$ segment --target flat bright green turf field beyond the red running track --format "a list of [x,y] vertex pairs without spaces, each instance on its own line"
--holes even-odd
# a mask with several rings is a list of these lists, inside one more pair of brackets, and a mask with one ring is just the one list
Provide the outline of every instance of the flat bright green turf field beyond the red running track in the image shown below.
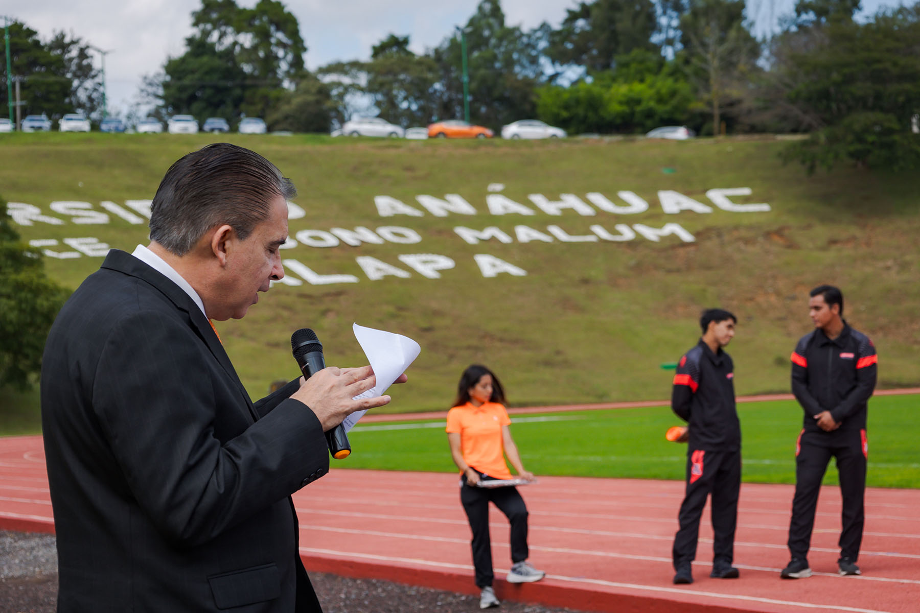
[[[920,396],[869,401],[868,479],[875,487],[920,487],[914,414]],[[802,423],[794,401],[740,403],[745,482],[795,482],[795,444]],[[528,470],[582,477],[683,479],[686,446],[664,439],[682,423],[666,406],[512,414],[512,435]],[[454,471],[443,420],[358,424],[351,457],[335,468]],[[825,483],[836,483],[834,461]]]

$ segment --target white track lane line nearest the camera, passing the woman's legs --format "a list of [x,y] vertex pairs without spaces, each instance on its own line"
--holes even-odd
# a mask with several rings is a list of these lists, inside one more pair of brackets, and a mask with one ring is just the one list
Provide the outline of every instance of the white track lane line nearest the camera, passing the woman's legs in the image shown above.
[[[372,553],[357,553],[351,551],[333,551],[333,550],[324,550],[324,549],[314,549],[310,547],[301,547],[301,553],[314,553],[318,555],[330,555],[336,558],[356,558],[358,560],[374,560],[376,562],[402,562],[408,564],[417,564],[420,566],[431,566],[435,568],[451,568],[456,570],[466,570],[471,571],[472,566],[467,564],[452,564],[448,562],[432,562],[431,560],[420,560],[418,558],[398,558],[396,556],[384,556],[376,555]],[[669,560],[670,562],[670,560]],[[507,573],[507,569],[496,568],[495,573]],[[723,600],[742,600],[748,602],[761,602],[769,605],[782,605],[786,607],[799,607],[799,608],[811,608],[811,609],[829,609],[832,611],[845,611],[846,613],[891,613],[890,611],[881,611],[879,609],[873,608],[857,608],[857,607],[844,607],[841,605],[821,605],[821,604],[812,604],[804,602],[796,602],[791,600],[777,600],[775,598],[762,598],[760,596],[740,596],[740,595],[730,595],[730,594],[719,594],[717,592],[702,592],[693,589],[680,589],[676,587],[663,587],[657,585],[638,585],[638,584],[623,584],[615,581],[604,581],[603,579],[587,579],[583,577],[567,577],[559,574],[547,574],[547,579],[553,579],[555,581],[571,583],[571,584],[592,584],[592,585],[604,585],[605,587],[619,587],[624,589],[638,590],[642,592],[660,592],[664,594],[671,595],[680,595],[682,598],[688,596],[707,596],[711,598],[720,598]]]

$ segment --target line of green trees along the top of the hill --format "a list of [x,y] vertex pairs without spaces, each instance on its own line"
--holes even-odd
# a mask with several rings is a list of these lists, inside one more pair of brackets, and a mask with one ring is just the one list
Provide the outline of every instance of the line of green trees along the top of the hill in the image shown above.
[[[464,36],[470,119],[493,130],[535,118],[574,134],[668,124],[701,134],[807,132],[788,158],[810,169],[840,159],[916,165],[920,2],[864,19],[859,7],[798,0],[776,33],[757,40],[743,0],[586,0],[558,28],[530,30],[509,25],[500,0],[482,0],[434,48],[415,53],[408,36],[390,34],[367,61],[311,72],[297,19],[279,0],[201,0],[185,51],[144,77],[142,95],[160,119],[258,116],[271,130],[325,132],[379,115],[424,126],[463,118]],[[86,43],[63,33],[41,43],[14,28],[14,73],[29,74],[29,110],[98,112]]]

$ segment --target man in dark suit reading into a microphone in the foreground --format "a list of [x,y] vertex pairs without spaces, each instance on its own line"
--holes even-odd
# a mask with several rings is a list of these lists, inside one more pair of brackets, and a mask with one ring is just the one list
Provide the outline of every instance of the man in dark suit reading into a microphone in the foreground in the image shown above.
[[257,153],[189,153],[149,247],[109,252],[58,315],[41,416],[62,613],[320,610],[291,494],[328,471],[325,430],[389,397],[352,400],[370,367],[328,368],[252,403],[209,321],[283,277],[293,194]]

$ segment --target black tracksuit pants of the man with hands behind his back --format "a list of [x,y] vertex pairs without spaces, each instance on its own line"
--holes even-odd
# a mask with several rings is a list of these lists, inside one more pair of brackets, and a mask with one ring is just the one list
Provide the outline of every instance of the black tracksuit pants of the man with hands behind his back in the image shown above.
[[699,520],[712,495],[713,565],[734,560],[735,526],[738,520],[738,494],[742,484],[742,452],[687,450],[686,494],[674,536],[674,570],[696,558]]

